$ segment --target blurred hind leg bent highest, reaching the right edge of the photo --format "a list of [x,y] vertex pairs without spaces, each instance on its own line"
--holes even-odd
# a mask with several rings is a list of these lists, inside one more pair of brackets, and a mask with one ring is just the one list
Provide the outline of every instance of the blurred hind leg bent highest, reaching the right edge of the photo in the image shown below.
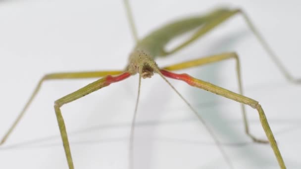
[[283,65],[283,63],[279,60],[279,57],[276,56],[275,52],[271,49],[271,47],[268,45],[268,43],[263,39],[262,35],[259,33],[259,31],[255,28],[254,24],[251,22],[251,19],[248,17],[248,15],[241,9],[227,9],[227,8],[220,8],[217,9],[216,12],[212,12],[212,14],[209,14],[207,17],[207,21],[202,25],[202,27],[188,40],[181,43],[180,45],[176,46],[174,49],[170,51],[163,51],[162,55],[170,55],[178,50],[181,50],[182,48],[186,47],[190,43],[196,41],[197,39],[201,38],[202,36],[206,35],[208,32],[213,30],[214,28],[220,26],[223,22],[226,20],[232,18],[233,16],[236,16],[237,14],[242,14],[244,17],[246,23],[248,24],[250,30],[255,35],[257,40],[260,42],[261,46],[265,49],[265,51],[268,53],[269,57],[272,59],[272,61],[276,64],[280,72],[285,76],[285,78],[296,84],[301,83],[301,79],[295,79],[287,70],[287,68]]

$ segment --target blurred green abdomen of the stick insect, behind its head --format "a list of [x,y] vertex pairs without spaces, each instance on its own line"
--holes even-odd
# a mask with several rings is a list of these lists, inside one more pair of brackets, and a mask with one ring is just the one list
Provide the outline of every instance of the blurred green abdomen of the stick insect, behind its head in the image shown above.
[[168,42],[182,34],[199,28],[193,36],[194,38],[192,41],[194,41],[201,35],[204,35],[207,31],[211,30],[212,27],[219,25],[237,12],[238,10],[236,9],[231,10],[223,8],[217,9],[207,15],[187,17],[171,22],[138,41],[136,48],[147,51],[152,57],[166,56],[167,53],[170,54],[170,52],[166,52],[164,49]]

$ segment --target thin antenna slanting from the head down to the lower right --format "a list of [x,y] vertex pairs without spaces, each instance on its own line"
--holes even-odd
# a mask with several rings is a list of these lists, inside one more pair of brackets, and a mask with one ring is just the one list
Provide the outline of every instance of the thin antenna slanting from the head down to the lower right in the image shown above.
[[162,73],[159,71],[158,68],[155,68],[154,71],[156,73],[158,73],[161,78],[164,79],[164,81],[171,86],[171,88],[181,97],[181,99],[187,104],[187,106],[197,115],[197,117],[199,118],[199,120],[201,121],[201,123],[204,125],[204,127],[207,129],[207,131],[209,132],[209,134],[211,135],[211,137],[213,138],[215,144],[217,145],[218,149],[220,150],[221,154],[223,155],[225,161],[228,163],[229,167],[231,169],[234,169],[230,159],[227,157],[226,152],[224,151],[224,149],[221,146],[221,143],[218,141],[217,137],[215,136],[214,132],[212,131],[212,129],[206,124],[206,122],[203,120],[203,118],[198,114],[198,112],[196,111],[195,108],[192,107],[192,105],[183,97],[182,94],[179,93],[179,91],[162,75]]

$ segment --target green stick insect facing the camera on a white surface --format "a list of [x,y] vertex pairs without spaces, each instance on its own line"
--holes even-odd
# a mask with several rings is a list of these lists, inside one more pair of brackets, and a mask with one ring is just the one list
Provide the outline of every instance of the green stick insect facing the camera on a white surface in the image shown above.
[[[125,1],[125,3],[128,4],[127,1]],[[33,97],[37,93],[40,85],[45,80],[64,79],[64,78],[65,79],[73,79],[73,78],[77,79],[77,78],[104,77],[104,78],[102,78],[102,79],[100,79],[100,80],[98,80],[98,81],[96,81],[92,84],[87,85],[86,87],[84,87],[84,88],[82,88],[82,89],[80,89],[80,90],[78,90],[74,93],[71,93],[70,95],[67,95],[67,96],[55,101],[54,109],[55,109],[55,113],[56,113],[56,116],[57,116],[60,132],[61,132],[61,135],[62,135],[62,140],[63,140],[63,143],[64,143],[64,149],[65,149],[65,152],[66,152],[66,157],[67,157],[69,168],[70,169],[73,168],[73,163],[72,163],[71,152],[70,152],[70,148],[69,148],[69,144],[68,144],[67,133],[65,131],[65,127],[64,127],[64,124],[63,124],[63,119],[62,119],[61,112],[60,112],[60,107],[63,104],[66,104],[66,103],[68,103],[72,100],[78,99],[78,98],[80,98],[80,97],[82,97],[86,94],[89,94],[90,92],[92,92],[94,90],[100,89],[101,87],[107,86],[111,83],[115,83],[115,82],[123,80],[123,79],[126,79],[130,75],[134,75],[134,74],[138,73],[139,76],[140,76],[140,78],[139,78],[139,84],[140,84],[141,78],[148,78],[148,77],[151,77],[153,73],[156,73],[159,76],[161,76],[168,84],[169,84],[169,82],[166,80],[165,77],[180,79],[180,80],[183,80],[183,81],[187,82],[188,84],[193,85],[195,87],[206,89],[206,90],[211,91],[213,93],[217,93],[217,94],[222,95],[224,97],[228,97],[230,99],[239,101],[241,103],[250,105],[251,107],[255,108],[259,113],[262,126],[263,126],[265,132],[267,133],[267,137],[268,137],[269,142],[270,142],[270,144],[271,144],[271,146],[272,146],[272,148],[275,152],[275,155],[276,155],[276,158],[279,162],[279,165],[280,165],[281,168],[284,169],[285,168],[284,162],[283,162],[282,157],[280,155],[280,152],[277,148],[277,145],[276,145],[275,140],[273,138],[272,132],[268,127],[267,121],[264,117],[263,110],[261,109],[261,106],[258,104],[257,101],[252,100],[251,98],[244,97],[240,94],[233,93],[233,92],[228,91],[226,89],[220,88],[220,87],[215,86],[213,84],[209,84],[209,83],[203,82],[201,80],[197,80],[197,79],[192,78],[192,77],[190,77],[188,75],[185,75],[185,74],[184,75],[179,75],[179,74],[174,74],[174,73],[169,72],[169,71],[174,71],[174,70],[178,70],[178,69],[185,69],[185,68],[193,67],[193,66],[201,66],[205,63],[213,63],[213,62],[217,62],[217,61],[220,61],[220,60],[233,58],[233,59],[237,60],[238,79],[240,79],[239,62],[238,62],[239,57],[237,56],[236,53],[223,53],[223,54],[220,54],[220,55],[204,57],[204,58],[200,58],[200,59],[197,59],[197,60],[192,60],[192,61],[188,61],[188,62],[185,62],[185,63],[180,63],[180,64],[176,64],[176,65],[172,65],[172,66],[168,66],[168,67],[164,67],[164,68],[158,68],[158,66],[153,61],[153,58],[155,56],[167,56],[169,54],[172,54],[172,53],[180,50],[181,48],[185,47],[186,45],[190,44],[191,42],[197,40],[198,38],[201,38],[202,35],[206,34],[211,29],[217,27],[219,24],[226,21],[228,18],[230,18],[234,15],[237,15],[237,14],[241,14],[246,18],[247,23],[249,24],[249,26],[251,27],[251,30],[257,36],[259,41],[261,43],[263,43],[263,45],[268,50],[270,55],[274,56],[274,54],[270,51],[270,49],[266,45],[266,43],[262,40],[262,38],[260,38],[261,36],[257,33],[255,28],[252,26],[252,24],[251,24],[250,20],[248,19],[248,17],[239,9],[226,9],[226,8],[225,9],[218,9],[218,10],[212,11],[211,13],[208,13],[207,15],[198,16],[196,18],[188,18],[187,20],[179,21],[179,23],[177,23],[177,21],[176,21],[174,24],[166,25],[166,26],[162,27],[162,29],[159,29],[159,30],[151,33],[150,36],[147,36],[146,38],[140,39],[140,38],[138,38],[137,33],[135,31],[135,26],[134,26],[134,23],[133,23],[133,19],[131,17],[131,12],[129,10],[129,6],[128,5],[126,5],[126,6],[127,6],[127,9],[128,9],[128,16],[129,16],[129,20],[130,20],[131,27],[132,27],[132,33],[135,37],[137,45],[136,45],[134,51],[132,52],[132,54],[130,56],[130,61],[129,61],[128,67],[125,70],[125,72],[124,71],[108,71],[108,72],[62,73],[62,74],[58,73],[58,74],[46,75],[40,81],[40,83],[38,85],[38,88],[35,90],[32,98],[29,100],[29,102],[27,104],[27,106],[30,104]],[[183,22],[185,24],[183,24]],[[170,40],[172,40],[172,38],[174,38],[177,35],[180,35],[182,33],[185,33],[187,31],[190,31],[193,28],[198,28],[198,27],[199,27],[199,31],[192,37],[192,39],[189,39],[187,42],[184,42],[182,45],[176,47],[175,49],[173,49],[171,51],[164,51],[165,44],[167,42],[169,42]],[[170,33],[170,35],[168,35],[167,33]],[[276,61],[276,63],[278,65],[281,65],[280,62],[277,61],[277,59],[274,58],[274,61]],[[286,73],[283,66],[279,66],[279,67],[280,67],[281,70],[283,70],[284,74],[286,75],[286,77],[288,79],[293,80],[291,78],[291,76],[288,73]],[[240,88],[242,88],[241,85],[240,85]],[[173,89],[177,92],[177,90],[175,88],[173,88]],[[240,89],[240,93],[243,94],[242,89]],[[139,94],[138,94],[138,96],[139,96]],[[187,102],[180,94],[179,94],[179,96],[185,102]],[[139,99],[137,99],[135,115],[136,115],[136,112],[137,112],[138,100]],[[27,106],[25,106],[25,108],[23,109],[21,115],[19,116],[20,118],[22,117],[23,113],[25,112]],[[194,111],[193,108],[191,108],[191,109]],[[243,112],[245,112],[244,105],[242,106],[242,109],[243,109]],[[245,113],[243,113],[243,114],[245,114]],[[14,123],[14,125],[11,127],[11,129],[7,132],[7,134],[2,139],[1,143],[4,143],[4,141],[6,140],[6,138],[10,134],[10,132],[13,130],[15,125],[18,123],[20,118],[17,119],[17,121]],[[200,118],[200,120],[201,120],[201,118]],[[133,122],[134,121],[135,121],[135,118],[133,119]],[[135,123],[133,123],[133,124],[135,124]],[[205,124],[205,123],[203,122],[203,124]],[[245,124],[246,124],[246,130],[248,131],[248,129],[247,129],[248,125],[247,125],[247,120],[246,119],[245,119]],[[132,128],[134,128],[134,126]],[[210,131],[210,129],[208,129],[208,130]],[[132,131],[133,131],[133,129],[132,129]],[[212,134],[212,137],[215,137],[213,133],[211,133],[211,134]],[[131,135],[133,135],[133,132],[132,132]],[[251,139],[253,139],[256,142],[266,142],[265,140],[257,139],[255,136],[251,135],[250,133],[248,133],[248,135],[251,137]],[[131,136],[131,138],[133,138],[133,137]],[[215,140],[215,141],[216,141],[217,145],[219,145],[218,140]],[[131,146],[133,146],[133,145],[131,145]],[[219,146],[219,148],[221,149],[221,152],[222,152],[223,156],[225,157],[225,160],[228,161],[229,166],[232,166],[231,163],[229,162],[229,160],[227,160],[227,157],[225,155],[225,152],[222,150],[222,147]]]

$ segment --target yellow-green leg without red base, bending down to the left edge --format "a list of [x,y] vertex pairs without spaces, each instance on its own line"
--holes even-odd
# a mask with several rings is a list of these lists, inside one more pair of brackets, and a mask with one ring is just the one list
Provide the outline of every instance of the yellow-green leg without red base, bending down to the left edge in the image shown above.
[[6,139],[9,137],[10,133],[13,131],[13,129],[17,126],[19,121],[22,119],[24,116],[27,108],[29,105],[32,103],[33,99],[37,95],[38,91],[41,88],[41,85],[44,81],[46,80],[54,80],[54,79],[84,79],[84,78],[100,78],[106,75],[118,75],[121,74],[122,71],[99,71],[99,72],[69,72],[69,73],[52,73],[45,75],[38,83],[36,86],[34,92],[31,94],[29,100],[25,104],[24,108],[18,115],[17,119],[14,121],[12,126],[7,130],[3,138],[1,139],[0,145],[2,145]]

